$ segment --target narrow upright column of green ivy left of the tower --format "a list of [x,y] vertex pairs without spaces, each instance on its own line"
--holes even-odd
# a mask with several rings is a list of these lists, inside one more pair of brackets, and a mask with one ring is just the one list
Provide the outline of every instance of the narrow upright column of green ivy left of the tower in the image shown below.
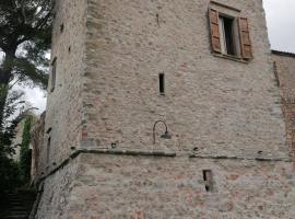
[[24,183],[30,182],[31,175],[31,150],[30,150],[30,142],[31,142],[31,125],[32,125],[32,116],[27,116],[24,123],[23,136],[22,136],[22,143],[21,143],[21,160],[20,160],[20,168],[22,173],[22,180]]

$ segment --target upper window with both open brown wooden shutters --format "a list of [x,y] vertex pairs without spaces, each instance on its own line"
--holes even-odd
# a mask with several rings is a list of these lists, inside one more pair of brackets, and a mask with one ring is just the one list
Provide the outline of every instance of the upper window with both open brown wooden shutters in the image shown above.
[[[221,8],[221,4],[219,5]],[[223,5],[228,9],[231,7]],[[237,14],[237,9],[234,9]],[[226,14],[222,10],[209,9],[212,49],[222,56],[249,60],[252,47],[247,18]]]

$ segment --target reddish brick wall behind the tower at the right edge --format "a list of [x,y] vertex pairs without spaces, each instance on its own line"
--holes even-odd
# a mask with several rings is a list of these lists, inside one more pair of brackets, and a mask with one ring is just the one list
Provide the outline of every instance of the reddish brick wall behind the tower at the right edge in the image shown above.
[[273,51],[274,68],[278,73],[282,95],[282,108],[287,128],[287,142],[295,152],[295,55]]

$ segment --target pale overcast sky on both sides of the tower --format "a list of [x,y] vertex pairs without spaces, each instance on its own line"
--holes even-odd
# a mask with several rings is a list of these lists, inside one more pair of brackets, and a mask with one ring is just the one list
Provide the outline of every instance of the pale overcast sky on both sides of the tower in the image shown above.
[[[272,49],[295,53],[295,0],[263,0]],[[25,89],[26,100],[38,112],[45,111],[45,93],[39,89]]]

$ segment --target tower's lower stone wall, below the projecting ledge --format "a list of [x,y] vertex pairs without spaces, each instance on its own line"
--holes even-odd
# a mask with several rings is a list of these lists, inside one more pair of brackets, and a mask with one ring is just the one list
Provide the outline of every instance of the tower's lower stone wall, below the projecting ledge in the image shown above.
[[[48,178],[50,194],[43,200],[47,209],[37,218],[295,217],[291,162],[102,153],[82,154],[79,163],[69,165],[75,166],[74,176],[62,170]],[[212,192],[205,189],[203,170],[213,173]]]

